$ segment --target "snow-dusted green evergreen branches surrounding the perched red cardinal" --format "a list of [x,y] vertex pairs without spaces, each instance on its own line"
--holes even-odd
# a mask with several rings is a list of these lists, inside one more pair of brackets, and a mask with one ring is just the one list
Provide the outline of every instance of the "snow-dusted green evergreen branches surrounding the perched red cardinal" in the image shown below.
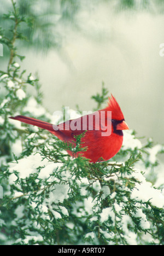
[[[10,115],[33,115],[51,121],[42,106],[38,79],[21,71],[24,56],[16,40],[22,22],[13,10],[4,15],[10,33],[1,29],[1,43],[10,52],[6,71],[0,71],[0,199],[1,245],[163,245],[163,165],[157,154],[164,148],[148,139],[142,144],[135,132],[126,132],[120,152],[107,162],[89,163],[71,158],[74,147],[51,133],[9,119]],[[19,64],[19,63],[20,64]],[[36,89],[36,97],[27,94]],[[107,89],[92,96],[100,107]]]

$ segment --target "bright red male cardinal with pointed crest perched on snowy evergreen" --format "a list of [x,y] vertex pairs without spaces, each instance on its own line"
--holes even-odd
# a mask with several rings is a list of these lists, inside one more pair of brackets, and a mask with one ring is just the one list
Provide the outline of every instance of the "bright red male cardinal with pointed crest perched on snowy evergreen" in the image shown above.
[[[62,141],[71,142],[74,145],[76,141],[74,136],[85,132],[84,137],[81,138],[81,146],[87,147],[87,150],[78,154],[90,159],[90,162],[102,161],[102,159],[107,161],[118,153],[123,141],[122,130],[128,129],[121,108],[113,95],[109,98],[106,108],[59,125],[23,115],[10,118],[48,130]],[[69,150],[67,152],[71,156],[78,156]]]

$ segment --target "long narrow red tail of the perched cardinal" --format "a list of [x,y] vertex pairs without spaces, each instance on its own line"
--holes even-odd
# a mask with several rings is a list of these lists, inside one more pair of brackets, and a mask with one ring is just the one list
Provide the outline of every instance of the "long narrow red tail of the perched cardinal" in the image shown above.
[[24,117],[24,115],[17,115],[17,117],[10,117],[10,118],[14,119],[14,120],[19,120],[26,124],[38,126],[42,129],[48,130],[50,132],[54,132],[54,128],[53,128],[54,125],[46,123],[46,122],[38,120],[38,119],[35,119],[35,118]]

